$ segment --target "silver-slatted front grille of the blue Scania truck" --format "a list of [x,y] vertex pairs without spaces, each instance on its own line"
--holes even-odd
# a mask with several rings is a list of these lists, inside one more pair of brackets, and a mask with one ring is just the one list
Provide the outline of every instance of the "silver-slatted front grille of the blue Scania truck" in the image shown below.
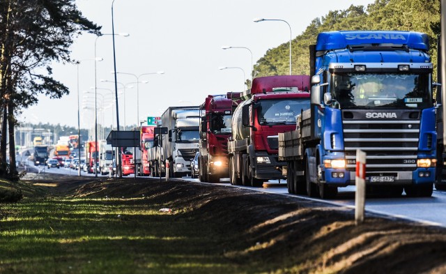
[[[367,153],[367,172],[417,167],[420,112],[397,111],[397,119],[366,119],[370,110],[343,111],[344,149],[347,170],[356,167],[356,150]],[[394,111],[392,111],[394,112]]]

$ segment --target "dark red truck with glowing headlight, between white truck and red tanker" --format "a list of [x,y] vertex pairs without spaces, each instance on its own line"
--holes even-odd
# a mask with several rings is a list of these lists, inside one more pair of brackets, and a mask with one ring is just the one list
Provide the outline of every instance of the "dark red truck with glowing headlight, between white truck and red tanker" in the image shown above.
[[[229,176],[228,139],[232,136],[233,109],[241,93],[209,95],[200,105],[199,180],[217,183]],[[238,98],[238,99],[237,99]]]

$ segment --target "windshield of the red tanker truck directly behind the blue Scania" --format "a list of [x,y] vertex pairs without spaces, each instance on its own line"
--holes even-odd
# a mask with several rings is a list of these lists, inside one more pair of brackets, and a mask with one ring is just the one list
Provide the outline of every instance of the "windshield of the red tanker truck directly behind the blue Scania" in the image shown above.
[[261,125],[295,123],[295,116],[302,110],[309,109],[308,98],[261,100],[254,106],[258,111]]

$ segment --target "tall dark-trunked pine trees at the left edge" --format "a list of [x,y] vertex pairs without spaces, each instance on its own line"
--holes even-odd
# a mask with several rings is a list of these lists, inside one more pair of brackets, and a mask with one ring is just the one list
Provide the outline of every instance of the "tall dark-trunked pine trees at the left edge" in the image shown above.
[[61,98],[68,87],[52,77],[52,61],[74,63],[70,45],[82,31],[100,35],[100,26],[82,16],[75,0],[0,0],[0,177],[18,179],[15,117],[39,94]]

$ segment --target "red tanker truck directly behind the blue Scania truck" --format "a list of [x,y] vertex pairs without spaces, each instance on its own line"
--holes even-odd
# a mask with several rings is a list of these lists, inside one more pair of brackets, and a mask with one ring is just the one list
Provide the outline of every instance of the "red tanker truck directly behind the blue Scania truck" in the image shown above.
[[309,108],[309,76],[258,77],[233,112],[228,142],[233,185],[261,186],[285,178],[278,160],[279,132],[295,130],[295,116]]

